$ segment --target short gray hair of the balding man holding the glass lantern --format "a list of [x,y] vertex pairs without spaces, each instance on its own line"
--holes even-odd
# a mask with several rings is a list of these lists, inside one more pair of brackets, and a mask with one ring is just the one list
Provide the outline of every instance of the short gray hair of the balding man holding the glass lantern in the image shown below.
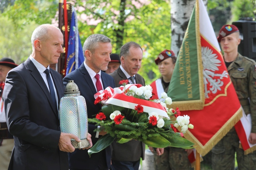
[[51,24],[42,24],[40,26],[38,26],[37,28],[35,28],[35,30],[33,31],[32,33],[32,36],[31,36],[31,43],[32,43],[32,50],[34,51],[34,41],[36,39],[39,39],[40,41],[46,41],[48,38],[49,38],[49,35],[48,35],[48,30],[49,28],[57,28],[59,29],[58,27],[55,27]]

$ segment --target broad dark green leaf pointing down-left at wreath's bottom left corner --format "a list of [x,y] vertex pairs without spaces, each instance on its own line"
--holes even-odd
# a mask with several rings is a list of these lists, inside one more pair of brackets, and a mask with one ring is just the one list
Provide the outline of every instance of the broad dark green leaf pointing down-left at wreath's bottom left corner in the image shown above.
[[89,156],[93,153],[98,153],[110,146],[110,144],[115,140],[115,138],[111,137],[109,134],[101,136],[100,139],[95,143],[93,147],[88,150]]

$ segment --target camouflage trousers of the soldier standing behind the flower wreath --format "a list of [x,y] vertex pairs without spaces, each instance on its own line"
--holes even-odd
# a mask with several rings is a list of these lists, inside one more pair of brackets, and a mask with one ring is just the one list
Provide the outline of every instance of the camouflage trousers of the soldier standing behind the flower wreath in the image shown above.
[[167,147],[163,154],[158,156],[154,152],[156,170],[190,170],[191,164],[185,149]]

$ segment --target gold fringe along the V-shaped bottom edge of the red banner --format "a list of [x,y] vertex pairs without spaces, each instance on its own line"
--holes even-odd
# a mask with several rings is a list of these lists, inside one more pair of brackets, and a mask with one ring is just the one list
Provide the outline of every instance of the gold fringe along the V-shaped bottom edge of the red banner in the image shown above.
[[[241,119],[242,108],[238,111],[222,126],[221,129],[203,146],[196,137],[189,132],[184,134],[185,138],[195,143],[194,147],[200,155],[204,156],[233,128],[233,126]],[[179,128],[179,130],[181,130]]]

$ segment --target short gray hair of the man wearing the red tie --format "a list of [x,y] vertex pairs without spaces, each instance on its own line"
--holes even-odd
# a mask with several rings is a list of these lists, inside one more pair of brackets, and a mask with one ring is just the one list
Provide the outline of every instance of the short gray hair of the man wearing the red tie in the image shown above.
[[85,50],[89,50],[91,53],[95,52],[98,47],[98,43],[111,43],[111,39],[102,34],[93,34],[86,38],[83,46],[83,53]]

